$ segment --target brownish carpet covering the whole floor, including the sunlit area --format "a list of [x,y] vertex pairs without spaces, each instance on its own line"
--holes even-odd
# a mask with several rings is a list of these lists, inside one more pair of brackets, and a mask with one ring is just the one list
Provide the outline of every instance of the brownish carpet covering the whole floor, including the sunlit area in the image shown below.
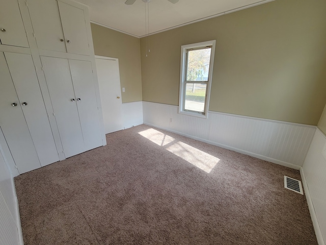
[[15,178],[25,244],[317,244],[298,170],[145,125]]

